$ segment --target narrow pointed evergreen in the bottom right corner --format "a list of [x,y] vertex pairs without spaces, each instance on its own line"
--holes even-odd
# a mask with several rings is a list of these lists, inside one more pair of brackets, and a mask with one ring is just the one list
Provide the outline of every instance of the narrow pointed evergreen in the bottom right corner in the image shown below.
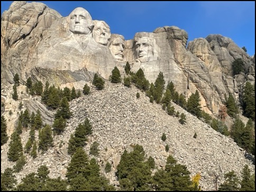
[[251,176],[248,165],[245,165],[242,171],[241,191],[255,191],[255,183]]

